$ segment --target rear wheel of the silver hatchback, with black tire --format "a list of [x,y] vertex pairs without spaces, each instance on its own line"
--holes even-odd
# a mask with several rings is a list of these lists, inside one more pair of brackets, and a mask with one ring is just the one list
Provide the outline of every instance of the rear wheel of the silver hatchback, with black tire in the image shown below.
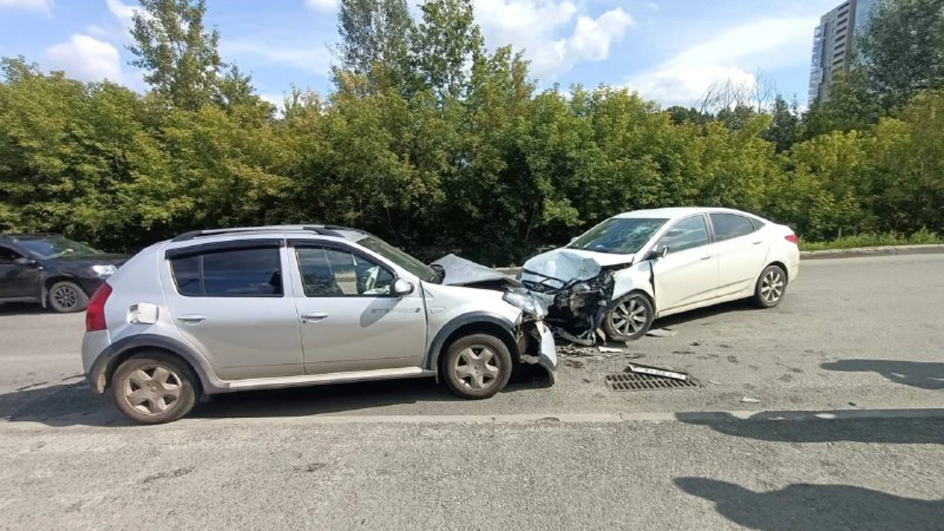
[[[166,376],[159,368],[166,371]],[[160,424],[190,413],[197,398],[195,385],[194,371],[176,356],[144,352],[118,366],[111,378],[111,396],[128,419],[142,424]],[[142,389],[143,393],[137,396],[131,394]],[[167,401],[168,398],[173,400]],[[165,407],[162,411],[161,403]]]

